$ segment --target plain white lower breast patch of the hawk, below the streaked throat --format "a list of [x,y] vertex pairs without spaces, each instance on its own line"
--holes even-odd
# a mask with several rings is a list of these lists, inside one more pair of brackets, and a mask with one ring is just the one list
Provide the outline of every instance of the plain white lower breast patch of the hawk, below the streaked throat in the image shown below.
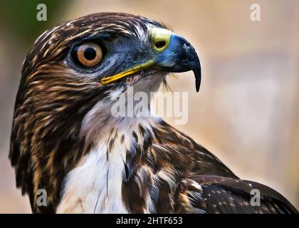
[[117,145],[107,160],[107,144],[99,144],[65,177],[57,213],[127,213],[122,202],[126,150]]

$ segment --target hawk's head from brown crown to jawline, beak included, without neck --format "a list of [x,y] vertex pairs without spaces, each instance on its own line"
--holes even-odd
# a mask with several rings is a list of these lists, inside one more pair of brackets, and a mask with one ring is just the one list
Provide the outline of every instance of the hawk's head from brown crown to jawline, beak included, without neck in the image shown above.
[[103,99],[115,90],[124,92],[127,86],[157,90],[167,73],[190,70],[199,90],[199,58],[184,38],[150,19],[106,13],[43,33],[26,58],[23,77],[28,86],[42,88],[43,100],[58,97],[63,89],[54,91],[53,84],[58,83],[69,88],[70,95],[76,95],[74,87],[80,88],[77,99],[84,99],[83,93],[90,96],[92,88],[92,94]]

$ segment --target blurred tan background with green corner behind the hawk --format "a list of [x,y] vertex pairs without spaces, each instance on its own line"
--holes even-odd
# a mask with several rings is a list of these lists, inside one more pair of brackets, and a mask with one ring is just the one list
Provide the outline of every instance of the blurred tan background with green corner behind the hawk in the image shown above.
[[[299,208],[299,1],[11,2],[0,7],[1,213],[31,212],[8,160],[23,58],[46,28],[100,11],[147,16],[187,38],[203,77],[199,93],[192,73],[169,81],[173,91],[189,91],[189,121],[177,128],[242,179],[273,187]],[[48,6],[48,21],[36,20],[38,3]],[[259,22],[250,19],[253,3],[261,5]]]

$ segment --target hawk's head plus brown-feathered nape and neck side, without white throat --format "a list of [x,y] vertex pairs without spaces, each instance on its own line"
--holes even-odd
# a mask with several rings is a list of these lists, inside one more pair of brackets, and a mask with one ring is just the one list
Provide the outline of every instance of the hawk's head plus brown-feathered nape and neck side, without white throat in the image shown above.
[[[23,63],[16,96],[10,157],[17,185],[23,192],[55,189],[90,146],[90,135],[80,132],[99,102],[128,86],[157,90],[168,73],[183,71],[194,71],[198,91],[201,68],[192,45],[142,16],[91,14],[44,32]],[[105,118],[100,122],[107,124]],[[30,169],[33,186],[26,182]],[[48,197],[55,201],[51,191]]]

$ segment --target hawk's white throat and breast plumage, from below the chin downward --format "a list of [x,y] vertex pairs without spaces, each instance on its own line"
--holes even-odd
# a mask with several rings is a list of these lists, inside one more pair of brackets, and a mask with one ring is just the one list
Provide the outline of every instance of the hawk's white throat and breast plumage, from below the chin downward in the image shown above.
[[[136,93],[130,90],[126,91],[125,98],[117,100],[121,93],[121,90],[114,90],[85,115],[80,137],[85,139],[90,150],[63,180],[58,213],[128,212],[122,199],[125,191],[122,184],[138,169],[137,161],[144,156],[154,137],[152,128],[161,119],[150,112],[149,100],[136,103],[133,98]],[[133,115],[130,115],[130,105],[134,109],[137,107]],[[143,109],[139,109],[140,106]],[[126,110],[126,113],[115,115],[115,110]]]

